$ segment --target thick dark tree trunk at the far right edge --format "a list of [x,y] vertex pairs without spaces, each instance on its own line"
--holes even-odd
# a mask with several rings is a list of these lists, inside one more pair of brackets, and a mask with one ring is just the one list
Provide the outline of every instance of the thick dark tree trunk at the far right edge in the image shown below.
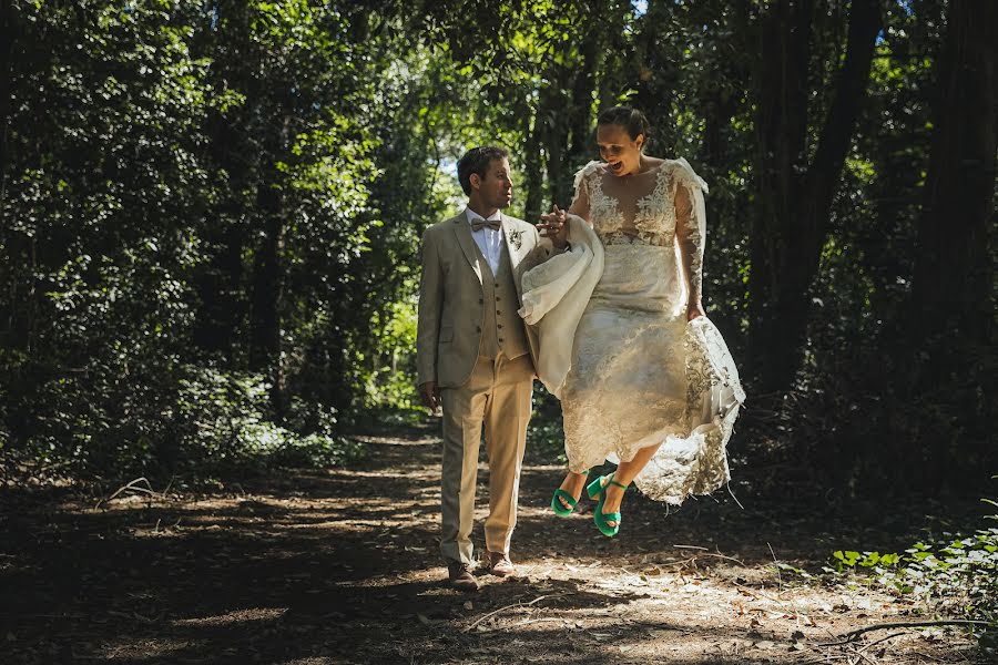
[[990,339],[998,3],[953,0],[947,22],[910,317],[914,346],[940,349]]

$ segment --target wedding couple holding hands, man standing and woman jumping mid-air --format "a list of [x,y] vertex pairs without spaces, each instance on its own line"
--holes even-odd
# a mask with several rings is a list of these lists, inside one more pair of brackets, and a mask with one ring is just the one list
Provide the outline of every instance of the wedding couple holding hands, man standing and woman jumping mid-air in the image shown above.
[[[727,482],[725,452],[744,392],[704,316],[706,184],[683,160],[646,155],[650,127],[628,106],[600,113],[601,161],[576,175],[567,211],[536,226],[503,215],[508,153],[476,147],[458,162],[468,206],[422,237],[417,372],[442,409],[442,532],[448,579],[473,591],[471,530],[485,433],[489,515],[482,567],[515,573],[510,540],[533,379],[561,400],[568,474],[551,509],[584,491],[595,528],[621,525],[624,491],[679,504]],[[589,470],[605,461],[612,474]]]

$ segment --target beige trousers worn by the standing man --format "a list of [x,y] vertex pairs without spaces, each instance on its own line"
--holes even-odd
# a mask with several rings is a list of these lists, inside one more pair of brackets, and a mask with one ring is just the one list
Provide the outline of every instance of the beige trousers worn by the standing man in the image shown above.
[[442,388],[444,470],[440,478],[440,554],[471,563],[471,526],[478,482],[478,448],[485,429],[489,460],[489,516],[486,549],[509,553],[517,525],[520,470],[533,392],[530,356],[479,358],[459,388]]

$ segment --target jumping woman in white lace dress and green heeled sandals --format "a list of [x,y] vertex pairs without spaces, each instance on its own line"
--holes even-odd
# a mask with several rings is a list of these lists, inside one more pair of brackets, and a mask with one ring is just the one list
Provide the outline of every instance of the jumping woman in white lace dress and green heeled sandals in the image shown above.
[[744,400],[701,299],[707,186],[685,160],[644,154],[648,136],[640,111],[603,111],[597,126],[603,161],[577,174],[568,213],[556,207],[540,225],[556,235],[584,221],[602,246],[602,274],[558,387],[569,473],[551,505],[570,514],[588,470],[618,462],[588,488],[599,499],[595,524],[610,536],[631,482],[676,504],[727,482],[725,447]]

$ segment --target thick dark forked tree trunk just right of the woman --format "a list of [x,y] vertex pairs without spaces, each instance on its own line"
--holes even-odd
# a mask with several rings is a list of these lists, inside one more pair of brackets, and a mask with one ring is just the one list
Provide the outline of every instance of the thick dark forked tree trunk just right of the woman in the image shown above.
[[832,200],[865,96],[876,35],[876,0],[854,0],[845,62],[814,161],[805,155],[809,0],[783,0],[763,30],[758,208],[750,277],[752,354],[757,389],[792,387],[811,310],[809,289],[827,236]]

